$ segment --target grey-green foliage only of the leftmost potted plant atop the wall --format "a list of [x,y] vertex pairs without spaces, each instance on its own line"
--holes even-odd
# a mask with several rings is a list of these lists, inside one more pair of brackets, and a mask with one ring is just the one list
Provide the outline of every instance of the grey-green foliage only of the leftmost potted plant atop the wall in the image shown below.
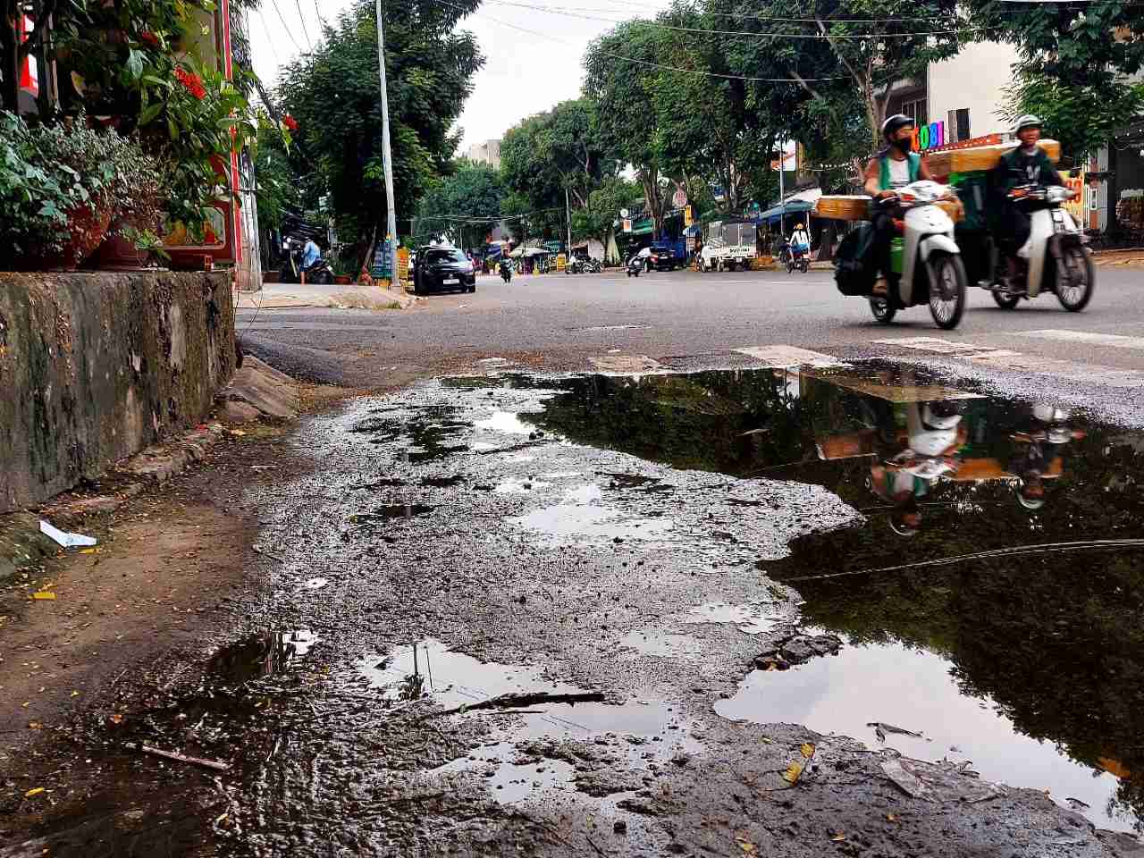
[[0,253],[63,249],[72,215],[114,207],[127,194],[117,165],[142,158],[137,144],[88,128],[84,116],[29,127],[0,112]]

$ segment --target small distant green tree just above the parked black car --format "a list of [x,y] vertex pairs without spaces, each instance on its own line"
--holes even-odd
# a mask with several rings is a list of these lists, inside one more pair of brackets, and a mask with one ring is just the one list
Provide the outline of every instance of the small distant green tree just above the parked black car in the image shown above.
[[436,182],[421,198],[416,241],[442,233],[459,247],[483,241],[501,216],[505,197],[500,173],[484,164],[460,161],[453,175]]

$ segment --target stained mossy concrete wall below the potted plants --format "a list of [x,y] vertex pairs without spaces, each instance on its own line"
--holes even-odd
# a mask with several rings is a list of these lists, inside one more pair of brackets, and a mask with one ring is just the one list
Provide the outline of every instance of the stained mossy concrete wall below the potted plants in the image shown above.
[[0,272],[0,513],[200,422],[233,372],[227,272]]

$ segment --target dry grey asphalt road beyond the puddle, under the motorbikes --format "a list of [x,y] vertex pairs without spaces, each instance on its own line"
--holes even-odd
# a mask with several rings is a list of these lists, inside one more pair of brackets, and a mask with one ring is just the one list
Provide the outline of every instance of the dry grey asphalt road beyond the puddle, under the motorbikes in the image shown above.
[[387,373],[432,373],[496,356],[567,370],[617,351],[669,365],[720,364],[736,349],[772,343],[907,353],[876,341],[917,336],[1142,371],[1141,285],[1139,270],[1099,268],[1096,294],[1080,313],[1051,295],[1002,310],[974,288],[960,327],[943,332],[924,307],[879,325],[865,301],[837,293],[829,271],[547,275],[510,284],[490,276],[475,294],[430,295],[406,311],[244,311],[239,331],[249,350],[288,372],[359,387],[384,383]]

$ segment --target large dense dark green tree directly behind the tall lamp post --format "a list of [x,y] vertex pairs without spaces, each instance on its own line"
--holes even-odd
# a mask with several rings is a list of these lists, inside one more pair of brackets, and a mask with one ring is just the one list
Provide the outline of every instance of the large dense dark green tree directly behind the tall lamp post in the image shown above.
[[[455,25],[478,0],[436,3],[390,0],[384,7],[386,73],[398,223],[408,223],[421,196],[451,169],[460,142],[454,128],[484,57],[471,33]],[[378,29],[374,5],[355,0],[324,41],[283,72],[280,104],[299,122],[292,157],[307,205],[327,197],[339,233],[364,259],[386,221]]]

